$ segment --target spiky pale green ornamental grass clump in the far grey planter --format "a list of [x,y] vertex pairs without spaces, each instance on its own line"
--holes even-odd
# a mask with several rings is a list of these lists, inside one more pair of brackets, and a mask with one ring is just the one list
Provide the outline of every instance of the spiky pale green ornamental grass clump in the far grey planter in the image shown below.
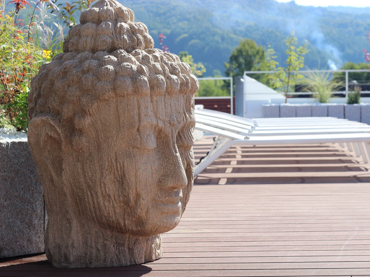
[[304,80],[306,85],[303,90],[314,93],[314,98],[319,103],[328,103],[333,98],[333,92],[343,86],[343,82],[333,83],[330,81],[330,72],[311,71]]

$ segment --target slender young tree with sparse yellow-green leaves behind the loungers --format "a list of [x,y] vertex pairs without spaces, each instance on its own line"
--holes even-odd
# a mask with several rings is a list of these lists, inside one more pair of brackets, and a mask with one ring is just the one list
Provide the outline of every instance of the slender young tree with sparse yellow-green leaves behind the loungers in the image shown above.
[[295,84],[299,79],[302,79],[303,76],[299,74],[299,69],[303,68],[305,64],[304,55],[308,52],[307,50],[307,41],[305,45],[297,47],[297,37],[294,35],[294,31],[290,34],[289,37],[285,39],[286,45],[286,60],[285,67],[278,66],[279,62],[276,61],[275,51],[268,46],[268,61],[270,68],[275,71],[274,74],[270,75],[272,84],[274,88],[282,89],[285,96],[285,103],[287,102],[287,96],[289,88]]

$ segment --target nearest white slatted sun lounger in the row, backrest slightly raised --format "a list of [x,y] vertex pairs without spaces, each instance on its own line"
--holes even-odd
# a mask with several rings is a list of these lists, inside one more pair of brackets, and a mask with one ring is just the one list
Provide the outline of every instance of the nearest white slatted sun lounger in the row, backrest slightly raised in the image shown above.
[[243,134],[222,130],[216,127],[196,123],[195,128],[217,137],[208,152],[195,167],[195,176],[205,170],[220,155],[232,146],[256,146],[276,144],[320,144],[320,143],[358,143],[364,163],[369,163],[370,133],[341,133],[341,134],[306,134],[289,136],[245,136]]

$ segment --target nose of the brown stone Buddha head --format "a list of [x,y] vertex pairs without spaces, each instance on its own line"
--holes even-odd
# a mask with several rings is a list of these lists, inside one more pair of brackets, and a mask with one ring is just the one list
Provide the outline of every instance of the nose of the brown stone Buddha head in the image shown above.
[[185,188],[188,184],[185,168],[178,151],[172,149],[166,153],[163,164],[163,175],[161,187],[165,190],[176,190]]

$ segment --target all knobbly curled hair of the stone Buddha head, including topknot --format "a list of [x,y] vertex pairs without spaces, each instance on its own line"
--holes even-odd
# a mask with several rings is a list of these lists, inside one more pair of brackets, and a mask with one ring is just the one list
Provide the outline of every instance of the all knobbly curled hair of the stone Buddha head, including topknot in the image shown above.
[[148,28],[134,22],[132,10],[100,0],[81,13],[80,21],[70,30],[64,53],[43,64],[32,79],[29,120],[50,114],[81,129],[76,122],[87,124],[82,119],[98,102],[146,96],[184,95],[191,111],[199,83],[190,66],[175,54],[154,49]]

